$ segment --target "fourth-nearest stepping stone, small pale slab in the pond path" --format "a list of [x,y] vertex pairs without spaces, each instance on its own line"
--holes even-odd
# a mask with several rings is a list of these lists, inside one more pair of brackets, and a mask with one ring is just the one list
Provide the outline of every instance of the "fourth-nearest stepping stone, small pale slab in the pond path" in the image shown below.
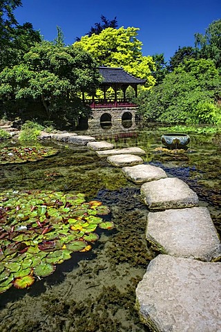
[[162,168],[153,165],[142,164],[133,167],[124,167],[122,171],[126,178],[134,183],[144,183],[160,180],[160,178],[167,178],[166,172]]

